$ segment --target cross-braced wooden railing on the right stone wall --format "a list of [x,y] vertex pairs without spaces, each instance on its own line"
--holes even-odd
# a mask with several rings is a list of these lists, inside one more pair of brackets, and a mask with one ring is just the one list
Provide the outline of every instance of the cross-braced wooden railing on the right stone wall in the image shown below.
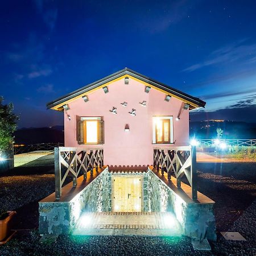
[[154,148],[154,167],[162,174],[167,172],[168,180],[174,174],[177,187],[181,187],[181,177],[187,177],[192,190],[192,199],[197,200],[196,146]]

